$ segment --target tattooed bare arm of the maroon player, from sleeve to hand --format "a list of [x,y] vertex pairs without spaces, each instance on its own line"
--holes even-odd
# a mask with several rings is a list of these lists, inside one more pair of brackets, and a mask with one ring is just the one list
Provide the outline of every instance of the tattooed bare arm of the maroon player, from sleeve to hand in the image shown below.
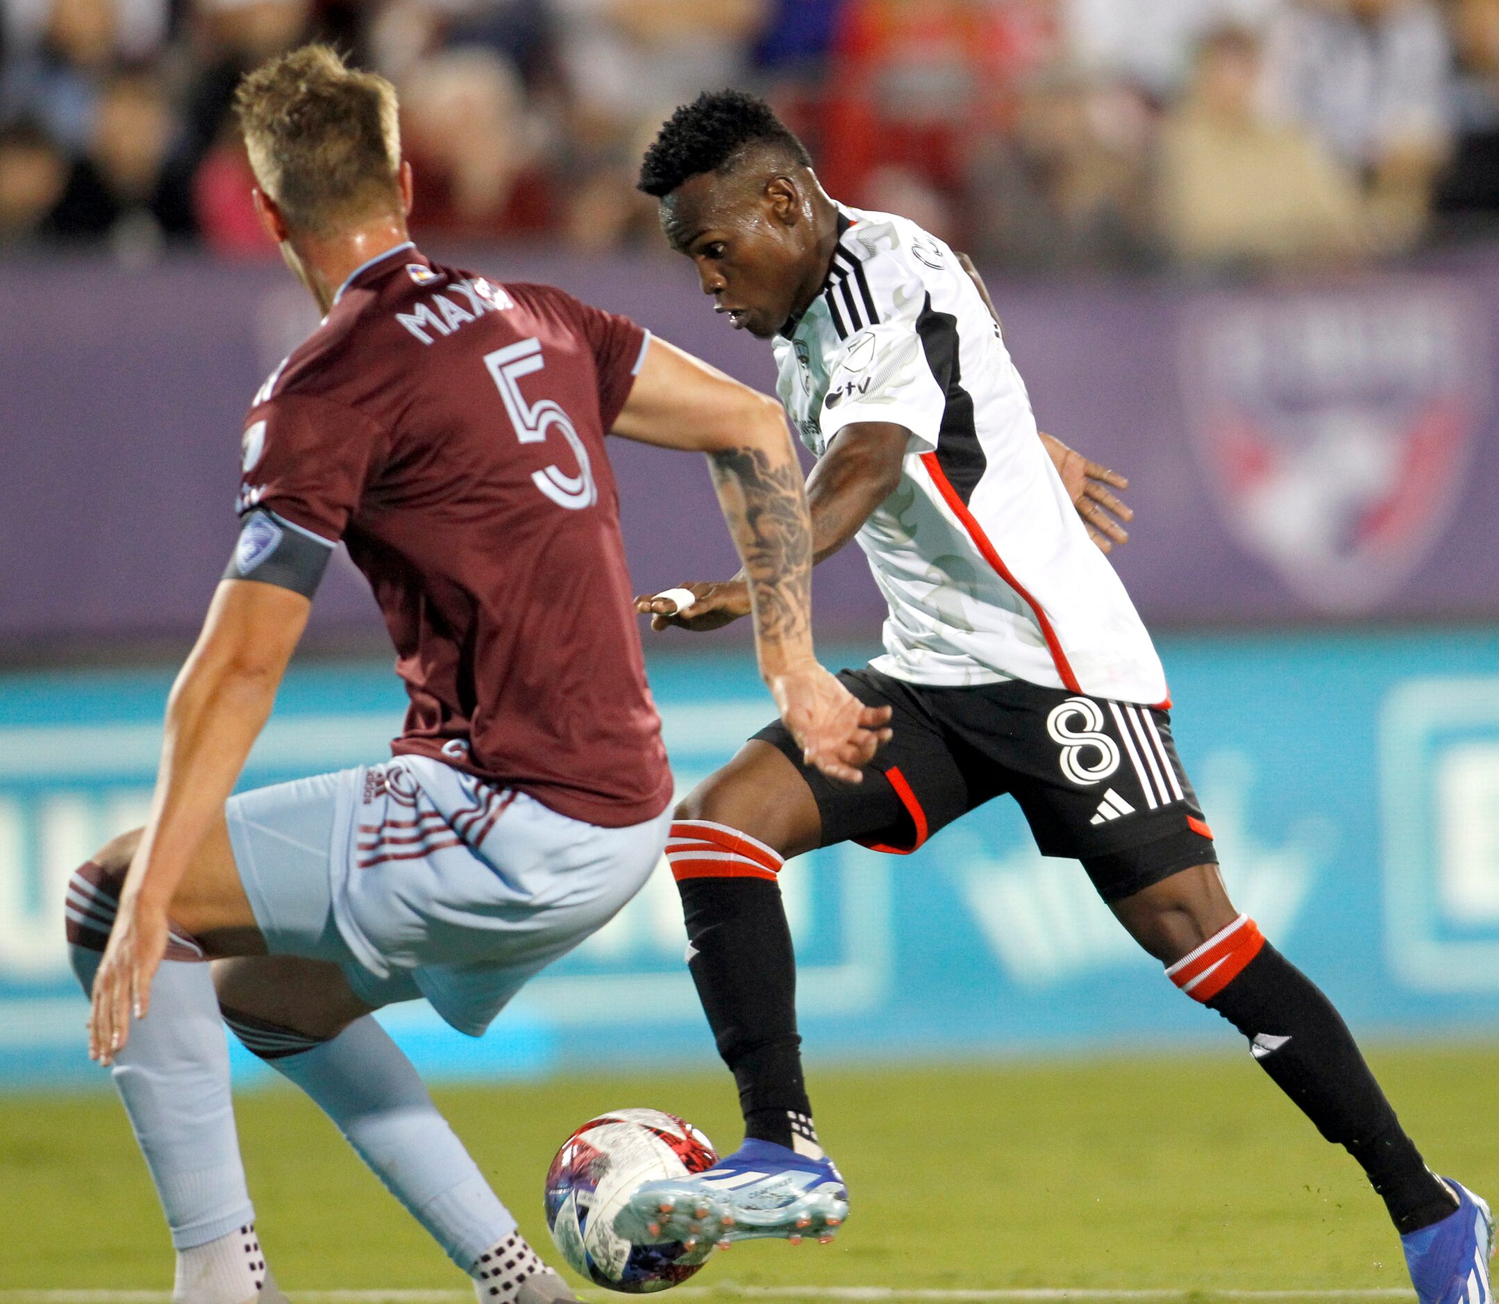
[[812,651],[812,529],[781,405],[654,339],[615,433],[708,454],[744,562],[760,673],[806,760],[857,782],[890,713],[863,706]]

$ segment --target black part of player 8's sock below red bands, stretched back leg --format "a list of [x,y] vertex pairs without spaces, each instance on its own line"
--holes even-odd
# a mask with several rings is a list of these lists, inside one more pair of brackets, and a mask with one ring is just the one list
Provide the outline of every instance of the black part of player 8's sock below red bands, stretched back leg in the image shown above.
[[1318,1132],[1363,1165],[1397,1231],[1453,1213],[1451,1193],[1405,1135],[1342,1015],[1268,941],[1207,1006],[1249,1037],[1259,1067]]

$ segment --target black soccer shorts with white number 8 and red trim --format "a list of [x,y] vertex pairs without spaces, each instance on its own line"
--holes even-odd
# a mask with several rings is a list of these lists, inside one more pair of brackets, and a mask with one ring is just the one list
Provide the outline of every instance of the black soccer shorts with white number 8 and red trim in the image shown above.
[[859,842],[908,854],[1010,793],[1042,854],[1081,860],[1105,901],[1217,862],[1166,710],[1021,679],[935,688],[869,668],[838,677],[860,701],[893,709],[895,736],[862,784],[803,764],[781,721],[755,734],[802,772],[823,818],[823,847]]

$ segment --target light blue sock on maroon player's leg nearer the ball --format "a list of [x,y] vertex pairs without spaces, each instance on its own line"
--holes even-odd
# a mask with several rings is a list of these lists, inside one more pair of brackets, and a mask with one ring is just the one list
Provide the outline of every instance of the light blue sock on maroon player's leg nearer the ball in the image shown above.
[[232,1010],[223,1018],[246,1046],[312,1097],[465,1273],[516,1231],[411,1060],[370,1015],[312,1049],[298,1049],[312,1043],[298,1033]]

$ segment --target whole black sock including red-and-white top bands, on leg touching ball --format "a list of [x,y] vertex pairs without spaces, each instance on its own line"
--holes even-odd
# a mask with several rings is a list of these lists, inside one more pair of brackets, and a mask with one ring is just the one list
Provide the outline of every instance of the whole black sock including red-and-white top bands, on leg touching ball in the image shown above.
[[745,1135],[821,1156],[796,1033],[796,955],[781,904],[781,856],[708,820],[672,824],[688,967],[739,1084]]

